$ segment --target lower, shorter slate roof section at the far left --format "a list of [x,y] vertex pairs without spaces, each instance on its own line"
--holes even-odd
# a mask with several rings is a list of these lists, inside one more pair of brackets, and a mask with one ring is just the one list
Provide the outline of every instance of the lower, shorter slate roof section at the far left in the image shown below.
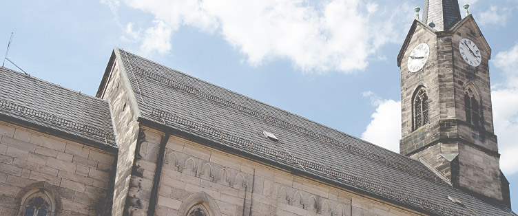
[[116,148],[106,101],[6,67],[0,67],[0,117],[58,131],[105,150]]

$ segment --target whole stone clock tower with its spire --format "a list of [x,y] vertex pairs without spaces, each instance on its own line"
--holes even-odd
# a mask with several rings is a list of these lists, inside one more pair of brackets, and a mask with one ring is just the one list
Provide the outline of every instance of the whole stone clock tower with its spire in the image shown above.
[[499,169],[488,61],[491,49],[457,0],[425,0],[397,57],[400,153],[431,165],[456,188],[510,206]]

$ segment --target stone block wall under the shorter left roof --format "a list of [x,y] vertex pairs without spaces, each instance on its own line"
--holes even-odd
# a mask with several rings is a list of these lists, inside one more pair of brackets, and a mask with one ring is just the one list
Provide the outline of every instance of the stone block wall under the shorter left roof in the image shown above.
[[55,191],[58,215],[98,215],[113,160],[112,153],[0,122],[0,215],[17,215],[20,198],[35,186]]

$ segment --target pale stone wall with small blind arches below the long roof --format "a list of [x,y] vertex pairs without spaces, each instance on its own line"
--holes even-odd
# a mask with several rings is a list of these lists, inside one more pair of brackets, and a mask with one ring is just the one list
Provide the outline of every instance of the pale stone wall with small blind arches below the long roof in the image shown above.
[[209,215],[413,215],[171,136],[166,144],[156,215],[187,215],[200,203],[205,203]]

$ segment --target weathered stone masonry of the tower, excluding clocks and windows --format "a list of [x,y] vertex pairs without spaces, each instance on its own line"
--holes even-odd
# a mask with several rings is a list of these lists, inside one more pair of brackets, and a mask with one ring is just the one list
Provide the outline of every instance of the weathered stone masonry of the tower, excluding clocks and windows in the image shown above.
[[[470,17],[464,19],[454,32],[444,34],[434,34],[417,25],[401,64],[400,152],[414,159],[423,158],[456,186],[501,200],[489,83],[490,49]],[[459,52],[459,42],[464,38],[479,46],[482,62],[478,67],[468,65]],[[423,69],[412,73],[408,71],[406,61],[419,43],[427,43],[431,47],[430,57]],[[482,122],[479,126],[466,122],[464,92],[467,86],[477,91]],[[417,87],[426,88],[428,93],[430,120],[427,125],[414,128],[413,96]],[[448,144],[454,144],[454,148],[446,147]],[[445,153],[458,154],[458,161],[446,160],[441,156]]]

